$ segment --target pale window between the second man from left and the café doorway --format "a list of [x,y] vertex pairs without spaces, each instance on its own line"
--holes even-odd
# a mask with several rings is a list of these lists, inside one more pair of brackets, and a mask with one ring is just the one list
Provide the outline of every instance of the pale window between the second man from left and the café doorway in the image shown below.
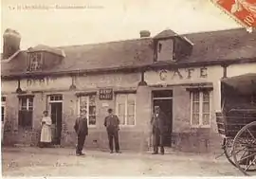
[[117,94],[116,109],[120,125],[136,125],[136,94]]

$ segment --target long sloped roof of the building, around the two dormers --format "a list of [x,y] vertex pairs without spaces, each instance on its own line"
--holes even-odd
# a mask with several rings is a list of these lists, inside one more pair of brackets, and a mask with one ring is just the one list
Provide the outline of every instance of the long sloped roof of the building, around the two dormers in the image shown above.
[[[184,36],[193,44],[192,55],[179,60],[176,64],[256,58],[256,32],[247,33],[244,28],[192,33]],[[45,72],[115,70],[153,65],[153,40],[153,38],[142,38],[97,45],[60,46],[58,48],[63,49],[65,53],[64,60]],[[26,73],[27,67],[24,66],[26,56],[27,52],[23,51],[15,60],[2,63],[2,76]]]

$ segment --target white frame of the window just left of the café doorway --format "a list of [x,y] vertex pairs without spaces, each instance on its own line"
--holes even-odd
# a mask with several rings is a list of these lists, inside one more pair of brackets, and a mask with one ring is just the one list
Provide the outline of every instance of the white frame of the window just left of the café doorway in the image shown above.
[[[136,111],[136,109],[137,109],[137,107],[136,107],[136,105],[137,105],[137,102],[136,102],[136,99],[137,99],[137,96],[136,96],[136,94],[135,93],[116,93],[115,94],[115,108],[116,108],[116,115],[117,116],[119,116],[119,103],[118,103],[118,96],[119,95],[125,95],[126,97],[125,97],[125,108],[124,108],[124,110],[125,110],[125,117],[124,117],[124,124],[119,124],[119,126],[120,127],[135,127],[136,125],[137,125],[137,117],[136,117],[136,114],[137,114],[137,111]],[[135,102],[135,107],[134,107],[134,120],[135,120],[135,124],[128,124],[128,96],[129,95],[134,95],[135,96],[135,100],[134,100],[134,102]]]

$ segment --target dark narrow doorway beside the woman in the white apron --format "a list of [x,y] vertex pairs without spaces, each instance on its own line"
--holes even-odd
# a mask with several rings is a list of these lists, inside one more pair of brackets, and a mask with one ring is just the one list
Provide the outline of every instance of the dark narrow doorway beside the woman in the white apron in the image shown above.
[[60,145],[63,124],[63,101],[61,95],[49,97],[49,110],[52,120],[52,144]]

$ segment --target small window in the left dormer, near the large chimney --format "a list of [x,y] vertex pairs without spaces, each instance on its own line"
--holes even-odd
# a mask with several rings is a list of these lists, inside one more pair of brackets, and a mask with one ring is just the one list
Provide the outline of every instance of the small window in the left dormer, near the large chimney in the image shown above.
[[42,70],[43,54],[41,52],[33,52],[28,55],[28,71]]

